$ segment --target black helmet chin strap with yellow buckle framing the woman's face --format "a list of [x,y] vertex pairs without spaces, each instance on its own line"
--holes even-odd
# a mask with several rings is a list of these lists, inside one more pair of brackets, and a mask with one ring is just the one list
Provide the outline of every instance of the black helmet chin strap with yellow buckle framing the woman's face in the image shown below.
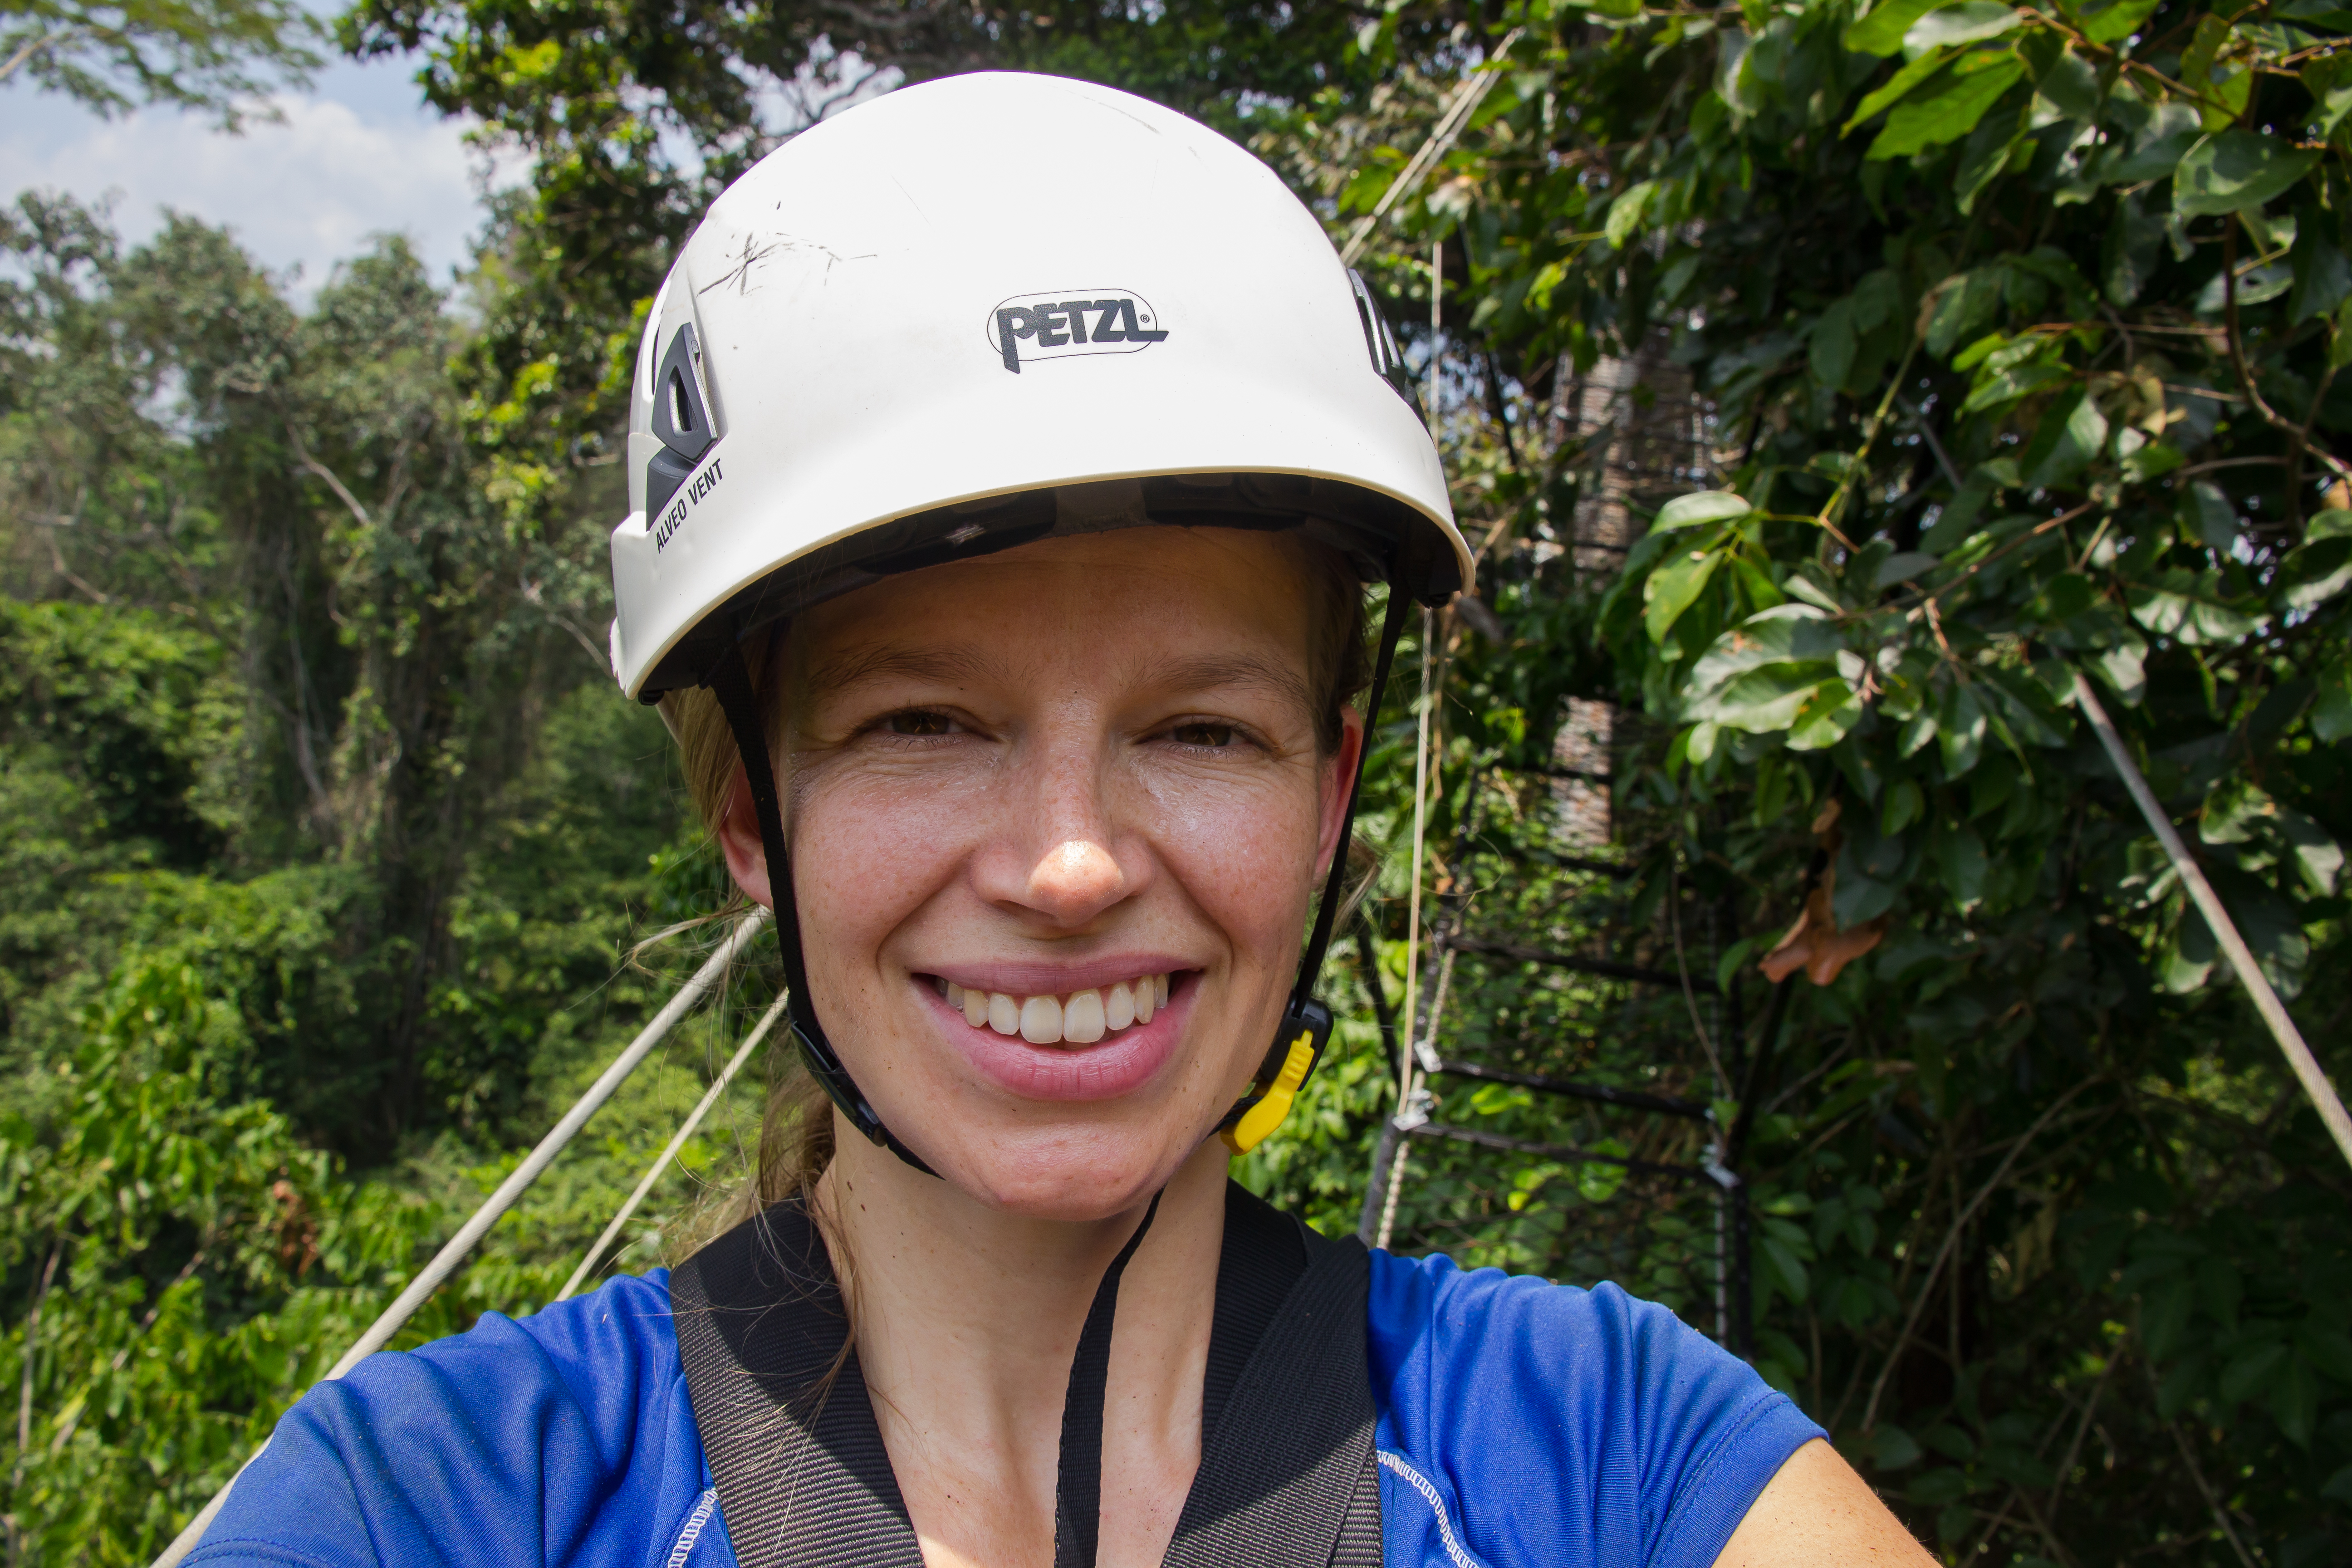
[[[1371,741],[1381,722],[1381,693],[1388,691],[1388,670],[1395,663],[1397,639],[1404,635],[1404,616],[1411,604],[1411,595],[1390,585],[1388,614],[1381,621],[1381,654],[1371,668],[1364,743],[1355,752],[1355,776],[1348,780],[1348,806],[1338,820],[1338,849],[1331,853],[1331,875],[1324,879],[1322,907],[1315,910],[1315,929],[1308,933],[1305,954],[1298,959],[1298,983],[1291,987],[1289,1006],[1282,1009],[1282,1027],[1275,1030],[1275,1044],[1258,1067],[1258,1084],[1218,1124],[1228,1138],[1235,1124],[1265,1098],[1265,1086],[1277,1081],[1296,1046],[1308,1046],[1308,1056],[1303,1070],[1291,1074],[1294,1081],[1289,1081],[1287,1093],[1296,1093],[1315,1072],[1324,1046],[1331,1041],[1331,1009],[1315,999],[1315,978],[1322,973],[1324,952],[1331,947],[1331,931],[1338,926],[1338,905],[1348,891],[1348,846],[1355,837],[1355,806],[1364,792],[1364,764],[1371,759]],[[882,1117],[866,1103],[856,1079],[849,1077],[842,1058],[833,1051],[833,1041],[826,1039],[823,1025],[816,1023],[816,1004],[809,999],[809,969],[800,952],[800,907],[793,898],[793,858],[783,839],[776,769],[769,762],[767,722],[760,715],[760,698],[753,691],[750,665],[743,661],[741,642],[710,672],[710,691],[727,715],[727,729],[734,731],[736,752],[743,757],[743,776],[750,783],[753,813],[760,818],[760,849],[767,851],[767,891],[776,905],[776,947],[783,952],[783,983],[790,994],[793,1039],[800,1044],[800,1060],[807,1063],[809,1077],[823,1086],[833,1103],[842,1107],[842,1114],[849,1117],[849,1124],[866,1133],[868,1140],[924,1175],[938,1175],[938,1171],[922,1164],[920,1154],[898,1143],[896,1133],[882,1126]],[[1136,1234],[1141,1237],[1141,1232]],[[1117,1279],[1117,1272],[1112,1272],[1112,1279]]]

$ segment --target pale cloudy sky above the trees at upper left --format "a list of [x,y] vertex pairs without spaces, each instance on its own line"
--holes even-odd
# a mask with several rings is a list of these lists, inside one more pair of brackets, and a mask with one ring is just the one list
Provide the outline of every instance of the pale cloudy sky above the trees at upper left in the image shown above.
[[0,87],[0,195],[113,195],[129,242],[155,233],[165,207],[226,223],[270,270],[299,268],[299,299],[376,233],[407,233],[447,282],[482,226],[482,155],[463,122],[426,108],[414,73],[402,59],[334,59],[306,92],[273,99],[280,125],[242,134],[172,108],[101,120],[16,75]]

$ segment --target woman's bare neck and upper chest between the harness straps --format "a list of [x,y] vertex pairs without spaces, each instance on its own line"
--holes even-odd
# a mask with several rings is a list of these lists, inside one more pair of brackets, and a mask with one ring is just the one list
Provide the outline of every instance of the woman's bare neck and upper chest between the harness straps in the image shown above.
[[[1054,1561],[1061,1408],[1103,1272],[1143,1204],[1094,1222],[974,1201],[844,1135],[816,1208],[927,1568]],[[1103,1399],[1103,1568],[1160,1563],[1200,1467],[1225,1152],[1169,1180],[1120,1284]]]

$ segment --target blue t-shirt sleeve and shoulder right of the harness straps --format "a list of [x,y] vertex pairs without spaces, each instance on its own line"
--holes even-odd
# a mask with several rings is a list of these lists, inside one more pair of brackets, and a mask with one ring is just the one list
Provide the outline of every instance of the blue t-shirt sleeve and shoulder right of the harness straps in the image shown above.
[[1665,1307],[1444,1258],[1374,1255],[1371,1371],[1397,1505],[1451,1535],[1437,1561],[1708,1568],[1820,1436]]

